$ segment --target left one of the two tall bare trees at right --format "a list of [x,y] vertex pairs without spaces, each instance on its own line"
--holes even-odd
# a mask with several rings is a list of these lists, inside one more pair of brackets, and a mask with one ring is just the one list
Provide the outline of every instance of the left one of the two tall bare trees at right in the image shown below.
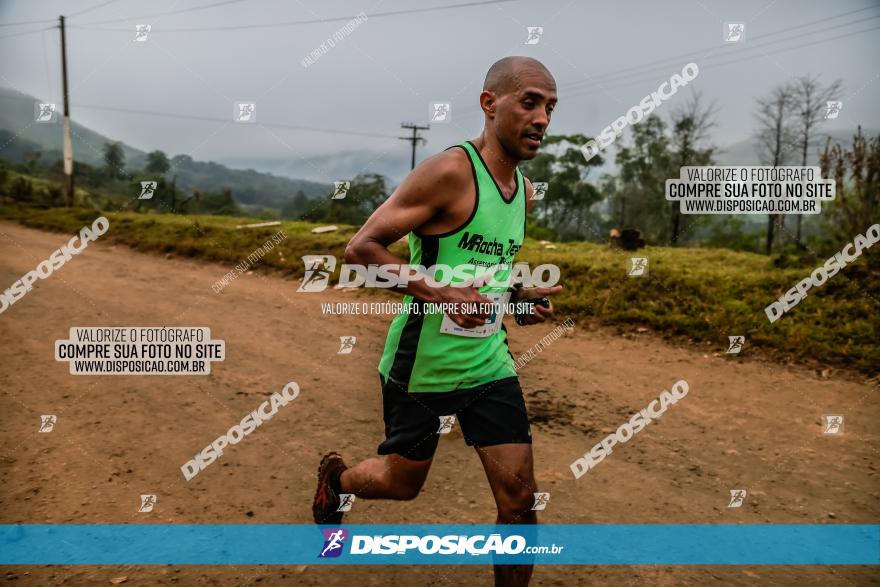
[[[791,120],[795,104],[794,88],[790,84],[777,86],[770,95],[758,98],[757,102],[755,118],[758,121],[758,154],[761,162],[773,167],[784,165],[795,140]],[[781,214],[770,214],[767,218],[767,255],[773,251],[774,227],[781,223],[781,217]]]

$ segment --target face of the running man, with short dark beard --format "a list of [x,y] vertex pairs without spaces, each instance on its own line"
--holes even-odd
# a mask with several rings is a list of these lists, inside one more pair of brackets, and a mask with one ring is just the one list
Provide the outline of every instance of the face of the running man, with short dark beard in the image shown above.
[[521,68],[512,86],[495,102],[495,135],[517,160],[538,154],[556,107],[556,83],[538,68]]

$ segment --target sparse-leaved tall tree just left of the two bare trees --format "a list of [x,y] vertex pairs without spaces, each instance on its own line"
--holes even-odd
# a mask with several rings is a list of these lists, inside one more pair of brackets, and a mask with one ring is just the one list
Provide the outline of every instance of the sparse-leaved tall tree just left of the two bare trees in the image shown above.
[[[671,116],[673,147],[673,171],[682,167],[712,165],[712,157],[716,147],[709,143],[709,132],[715,127],[717,107],[715,103],[703,105],[699,92],[692,94],[684,106],[676,108]],[[678,173],[672,177],[678,177]],[[664,183],[665,186],[665,183]],[[664,195],[665,197],[665,195]],[[678,244],[681,228],[681,210],[679,202],[670,202],[672,214],[672,237],[669,244]]]

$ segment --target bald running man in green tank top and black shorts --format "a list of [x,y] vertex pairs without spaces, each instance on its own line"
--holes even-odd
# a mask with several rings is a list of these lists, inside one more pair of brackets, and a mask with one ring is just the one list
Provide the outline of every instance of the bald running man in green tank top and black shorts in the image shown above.
[[[340,524],[339,495],[415,498],[425,482],[442,418],[455,414],[483,463],[501,524],[535,524],[537,491],[532,437],[522,389],[500,317],[489,320],[487,297],[512,303],[554,295],[561,286],[508,288],[514,255],[525,238],[531,182],[517,165],[538,154],[556,106],[556,82],[539,61],[505,57],[486,74],[482,134],[417,166],[367,220],[345,250],[348,263],[396,264],[388,250],[409,234],[410,263],[493,267],[492,285],[431,287],[411,279],[404,303],[480,304],[477,313],[403,312],[388,329],[379,362],[385,440],[379,457],[346,467],[335,452],[318,468],[315,522]],[[498,283],[503,287],[496,287]],[[436,283],[434,284],[436,285]],[[505,297],[507,296],[507,297]],[[535,304],[525,324],[544,322],[552,304]],[[463,330],[468,329],[468,330]],[[531,565],[495,566],[496,584],[527,585]]]

